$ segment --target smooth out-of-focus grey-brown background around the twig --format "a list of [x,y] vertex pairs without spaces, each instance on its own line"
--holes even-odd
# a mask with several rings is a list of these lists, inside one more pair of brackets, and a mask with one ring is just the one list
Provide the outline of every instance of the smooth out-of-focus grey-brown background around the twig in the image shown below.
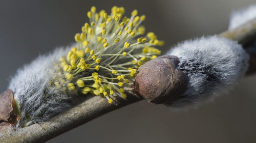
[[[39,54],[74,42],[91,6],[130,16],[145,14],[146,31],[165,41],[162,51],[182,40],[218,34],[230,13],[255,0],[194,1],[0,1],[0,91],[19,67]],[[198,109],[171,112],[141,101],[112,111],[52,142],[256,142],[256,76],[244,78],[229,94]]]

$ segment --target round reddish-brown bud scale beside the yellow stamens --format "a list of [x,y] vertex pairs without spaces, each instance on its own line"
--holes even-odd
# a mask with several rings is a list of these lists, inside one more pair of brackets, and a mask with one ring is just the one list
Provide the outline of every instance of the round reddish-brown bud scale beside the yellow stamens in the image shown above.
[[186,90],[187,76],[177,70],[177,56],[163,55],[142,65],[135,78],[135,91],[155,104],[171,103]]

